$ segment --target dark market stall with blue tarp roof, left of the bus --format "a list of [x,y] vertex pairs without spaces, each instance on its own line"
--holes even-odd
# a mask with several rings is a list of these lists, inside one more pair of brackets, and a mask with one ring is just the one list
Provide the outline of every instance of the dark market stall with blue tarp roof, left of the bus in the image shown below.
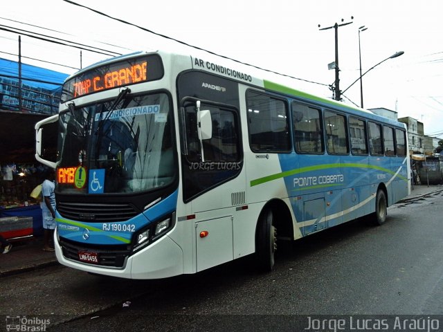
[[[0,233],[5,238],[43,234],[40,201],[30,192],[44,181],[35,160],[35,123],[57,113],[68,75],[0,58]],[[45,155],[56,153],[57,124],[46,131]]]

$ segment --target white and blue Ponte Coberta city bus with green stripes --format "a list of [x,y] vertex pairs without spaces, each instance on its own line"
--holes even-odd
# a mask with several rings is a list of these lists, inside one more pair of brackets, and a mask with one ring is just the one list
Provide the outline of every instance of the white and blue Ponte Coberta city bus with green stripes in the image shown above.
[[406,126],[251,72],[157,51],[71,75],[35,126],[36,158],[57,173],[58,261],[154,279],[254,254],[272,270],[279,241],[382,224],[409,191]]

